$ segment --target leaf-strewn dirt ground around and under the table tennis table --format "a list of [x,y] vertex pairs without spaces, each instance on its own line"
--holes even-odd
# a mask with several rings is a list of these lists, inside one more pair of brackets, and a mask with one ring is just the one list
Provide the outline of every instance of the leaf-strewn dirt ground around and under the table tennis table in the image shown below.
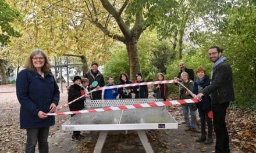
[[[66,104],[67,93],[61,93],[60,104]],[[24,152],[26,144],[26,130],[19,129],[19,107],[15,93],[15,85],[0,85],[0,152]],[[63,108],[63,111],[67,111]],[[182,124],[180,107],[169,107],[168,111],[179,122],[179,129],[175,130],[149,130],[147,136],[154,152],[214,152],[214,144],[205,145],[196,143],[195,139],[200,133],[185,132]],[[61,124],[70,116],[56,116],[56,124],[52,126],[49,134],[50,152],[93,152],[99,132],[86,133],[86,139],[80,142],[71,140],[71,132],[60,130]],[[215,136],[214,136],[215,139]],[[145,152],[136,132],[123,131],[108,134],[102,152]],[[232,148],[232,152],[242,152]]]

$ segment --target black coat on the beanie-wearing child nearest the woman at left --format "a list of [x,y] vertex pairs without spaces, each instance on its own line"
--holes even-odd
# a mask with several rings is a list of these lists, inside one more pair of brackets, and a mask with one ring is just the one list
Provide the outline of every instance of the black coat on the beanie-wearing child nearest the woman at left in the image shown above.
[[[84,91],[84,89],[81,88],[81,86],[77,84],[71,85],[69,87],[69,92],[68,92],[68,101],[70,102],[80,97],[82,91]],[[83,110],[83,108],[84,108],[84,98],[79,99],[72,104],[69,104],[70,111],[80,111],[80,110]]]

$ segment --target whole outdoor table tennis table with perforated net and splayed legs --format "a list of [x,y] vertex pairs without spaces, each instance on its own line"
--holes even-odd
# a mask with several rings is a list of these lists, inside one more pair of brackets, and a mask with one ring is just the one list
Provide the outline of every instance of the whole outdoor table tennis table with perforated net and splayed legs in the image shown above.
[[[152,103],[162,99],[126,99],[126,100],[94,100],[86,104],[86,108],[109,107],[127,104]],[[99,137],[94,153],[101,152],[108,131],[136,130],[144,150],[154,152],[148,142],[145,130],[177,129],[178,123],[165,107],[137,108],[132,110],[102,111],[87,114],[77,114],[62,124],[62,130],[99,130]]]

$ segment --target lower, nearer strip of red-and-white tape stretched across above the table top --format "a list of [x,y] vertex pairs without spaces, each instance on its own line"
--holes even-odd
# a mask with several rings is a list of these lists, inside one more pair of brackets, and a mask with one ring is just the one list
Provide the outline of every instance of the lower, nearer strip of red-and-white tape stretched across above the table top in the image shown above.
[[159,107],[164,105],[182,105],[182,104],[189,104],[189,103],[198,103],[198,99],[170,100],[170,101],[163,101],[163,102],[156,102],[156,103],[121,105],[116,107],[95,108],[95,109],[81,110],[81,111],[48,113],[47,115],[84,114],[89,112],[130,110],[130,109],[136,109],[136,108]]

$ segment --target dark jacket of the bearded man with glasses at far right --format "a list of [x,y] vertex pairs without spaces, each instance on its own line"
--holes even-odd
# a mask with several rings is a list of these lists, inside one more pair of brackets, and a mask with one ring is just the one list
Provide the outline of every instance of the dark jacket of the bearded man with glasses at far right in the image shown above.
[[211,94],[212,105],[227,103],[234,100],[232,68],[224,61],[216,66],[212,73],[212,83],[202,92]]

